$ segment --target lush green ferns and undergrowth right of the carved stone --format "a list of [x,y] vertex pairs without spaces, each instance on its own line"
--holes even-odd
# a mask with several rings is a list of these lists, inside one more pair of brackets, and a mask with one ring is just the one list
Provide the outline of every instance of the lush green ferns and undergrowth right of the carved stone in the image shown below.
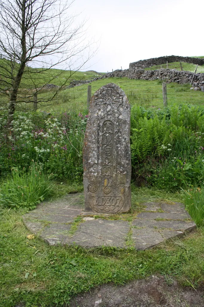
[[175,189],[204,178],[204,115],[199,107],[131,111],[132,178]]

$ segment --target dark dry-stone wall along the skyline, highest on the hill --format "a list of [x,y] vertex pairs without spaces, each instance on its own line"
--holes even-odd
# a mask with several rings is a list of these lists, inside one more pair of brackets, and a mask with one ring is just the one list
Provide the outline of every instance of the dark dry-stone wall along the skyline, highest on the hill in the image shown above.
[[158,58],[152,58],[147,60],[139,60],[137,62],[133,62],[129,64],[129,69],[135,70],[139,68],[147,68],[154,65],[161,65],[166,64],[166,62],[172,63],[172,62],[185,62],[185,63],[193,63],[198,65],[204,64],[204,58],[191,58],[189,56],[160,56]]

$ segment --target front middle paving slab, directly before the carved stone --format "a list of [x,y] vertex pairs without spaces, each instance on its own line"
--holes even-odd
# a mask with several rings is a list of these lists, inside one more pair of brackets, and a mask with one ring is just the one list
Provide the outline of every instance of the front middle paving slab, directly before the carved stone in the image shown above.
[[72,242],[84,247],[125,247],[129,228],[128,222],[125,221],[88,220],[80,225],[72,237]]

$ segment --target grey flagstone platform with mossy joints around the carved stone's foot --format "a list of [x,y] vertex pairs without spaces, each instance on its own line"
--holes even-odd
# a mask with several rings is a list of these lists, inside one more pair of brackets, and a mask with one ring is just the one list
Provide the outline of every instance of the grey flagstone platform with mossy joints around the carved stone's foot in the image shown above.
[[24,223],[32,234],[50,245],[76,244],[87,248],[132,245],[137,250],[154,247],[196,227],[180,203],[143,203],[143,212],[134,213],[129,222],[125,220],[127,213],[120,214],[121,220],[116,220],[118,215],[84,212],[83,202],[83,193],[77,193],[39,204],[23,216]]

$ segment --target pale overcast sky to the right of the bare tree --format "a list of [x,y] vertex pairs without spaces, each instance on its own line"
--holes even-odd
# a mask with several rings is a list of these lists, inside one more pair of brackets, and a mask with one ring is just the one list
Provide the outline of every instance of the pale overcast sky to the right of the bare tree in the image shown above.
[[89,37],[100,41],[88,69],[125,69],[172,54],[204,56],[203,0],[76,0],[71,10],[88,19]]

